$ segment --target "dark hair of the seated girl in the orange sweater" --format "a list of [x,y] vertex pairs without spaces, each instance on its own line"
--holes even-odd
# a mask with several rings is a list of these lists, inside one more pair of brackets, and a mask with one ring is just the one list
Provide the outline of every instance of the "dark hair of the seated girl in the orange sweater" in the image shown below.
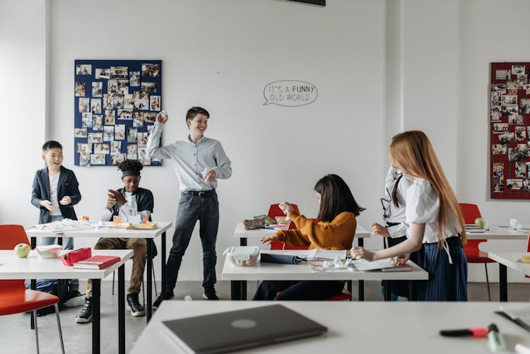
[[319,221],[331,222],[343,211],[350,211],[358,216],[365,208],[358,205],[348,184],[337,175],[325,175],[317,184],[314,191],[320,194]]

